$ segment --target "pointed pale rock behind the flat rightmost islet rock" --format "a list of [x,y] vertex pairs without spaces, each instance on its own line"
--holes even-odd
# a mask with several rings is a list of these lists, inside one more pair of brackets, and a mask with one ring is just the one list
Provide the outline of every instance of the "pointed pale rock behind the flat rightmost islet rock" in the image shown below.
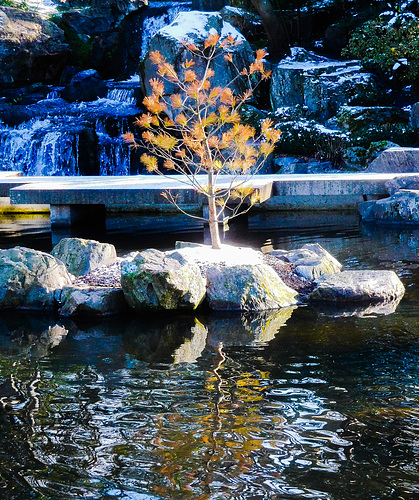
[[318,243],[308,243],[299,250],[273,250],[270,255],[294,264],[295,273],[310,280],[325,273],[338,273],[342,269],[342,264]]

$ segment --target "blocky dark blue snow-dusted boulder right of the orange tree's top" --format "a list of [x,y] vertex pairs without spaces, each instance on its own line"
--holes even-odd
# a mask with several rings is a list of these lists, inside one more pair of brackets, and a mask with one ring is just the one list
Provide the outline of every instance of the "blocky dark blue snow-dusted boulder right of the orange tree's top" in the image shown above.
[[301,47],[293,48],[272,73],[273,109],[302,105],[326,120],[340,106],[366,101],[371,95],[378,95],[375,80],[361,72],[359,61],[335,61]]

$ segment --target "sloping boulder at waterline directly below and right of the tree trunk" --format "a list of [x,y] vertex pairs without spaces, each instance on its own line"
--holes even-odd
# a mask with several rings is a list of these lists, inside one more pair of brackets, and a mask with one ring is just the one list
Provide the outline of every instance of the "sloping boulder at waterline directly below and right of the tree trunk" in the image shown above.
[[207,270],[207,298],[211,309],[264,311],[297,303],[298,293],[265,264],[214,265]]

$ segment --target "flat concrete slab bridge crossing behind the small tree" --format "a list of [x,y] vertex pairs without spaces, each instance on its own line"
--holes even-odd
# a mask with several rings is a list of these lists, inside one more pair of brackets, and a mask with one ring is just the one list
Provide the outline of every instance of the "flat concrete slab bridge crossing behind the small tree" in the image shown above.
[[[264,210],[356,210],[359,203],[388,195],[386,183],[395,177],[417,175],[400,173],[276,174],[239,178],[258,189]],[[205,183],[205,176],[198,176]],[[220,187],[232,178],[223,176]],[[202,210],[199,196],[180,175],[22,177],[16,173],[0,175],[0,196],[10,197],[12,206],[50,206],[51,224],[69,226],[86,214],[105,214],[106,210],[157,211],[172,205],[161,193],[170,191],[185,208]]]

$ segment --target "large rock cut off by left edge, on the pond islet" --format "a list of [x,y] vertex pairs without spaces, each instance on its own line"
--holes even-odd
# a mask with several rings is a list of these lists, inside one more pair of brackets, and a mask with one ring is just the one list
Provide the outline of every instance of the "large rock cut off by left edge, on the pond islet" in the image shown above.
[[0,250],[0,309],[51,310],[54,291],[71,284],[66,267],[37,250]]

